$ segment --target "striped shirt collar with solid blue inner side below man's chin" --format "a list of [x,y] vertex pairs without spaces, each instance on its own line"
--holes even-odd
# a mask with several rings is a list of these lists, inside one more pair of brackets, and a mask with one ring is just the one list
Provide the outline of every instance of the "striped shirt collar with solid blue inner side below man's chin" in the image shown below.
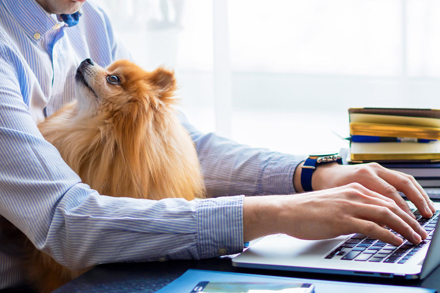
[[81,12],[60,15],[60,21],[40,6],[35,0],[2,0],[11,16],[20,24],[24,32],[34,42],[52,29],[73,26],[78,23]]

